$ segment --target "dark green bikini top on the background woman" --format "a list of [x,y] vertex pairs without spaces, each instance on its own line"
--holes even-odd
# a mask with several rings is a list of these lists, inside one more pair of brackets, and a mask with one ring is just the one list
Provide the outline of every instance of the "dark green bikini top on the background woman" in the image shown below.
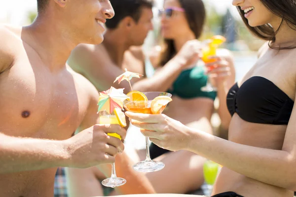
[[203,66],[195,66],[183,70],[168,92],[182,99],[204,97],[215,100],[217,92],[201,91],[201,87],[207,84],[207,79]]

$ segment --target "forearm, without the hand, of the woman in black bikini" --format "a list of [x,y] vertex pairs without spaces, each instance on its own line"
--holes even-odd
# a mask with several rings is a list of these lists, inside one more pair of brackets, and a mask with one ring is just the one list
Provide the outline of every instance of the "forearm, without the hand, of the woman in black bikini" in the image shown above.
[[247,146],[190,131],[192,140],[186,150],[213,160],[252,179],[296,190],[295,149],[292,152]]

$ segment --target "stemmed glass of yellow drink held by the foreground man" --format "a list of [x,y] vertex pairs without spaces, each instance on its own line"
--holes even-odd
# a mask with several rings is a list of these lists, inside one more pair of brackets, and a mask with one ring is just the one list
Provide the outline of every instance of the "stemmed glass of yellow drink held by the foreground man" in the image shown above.
[[[99,116],[100,116],[100,124],[105,125],[105,124],[117,124],[118,120],[116,118],[116,115],[114,114],[114,112],[112,112],[111,114],[108,113],[107,111],[100,111],[99,112]],[[108,133],[108,135],[113,136],[113,137],[117,137],[121,140],[120,135],[118,135],[117,133]],[[116,176],[116,172],[115,172],[115,163],[112,164],[111,166],[111,177],[107,178],[105,180],[102,181],[102,184],[106,187],[118,187],[121,185],[124,185],[126,183],[126,180],[124,178],[119,178]]]

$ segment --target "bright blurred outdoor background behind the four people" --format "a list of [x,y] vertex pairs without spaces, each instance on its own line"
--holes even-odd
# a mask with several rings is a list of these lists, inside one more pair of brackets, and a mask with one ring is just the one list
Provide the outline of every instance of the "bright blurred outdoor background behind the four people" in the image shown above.
[[[232,0],[204,0],[207,9],[207,22],[202,38],[206,39],[215,34],[227,38],[224,48],[231,50],[235,57],[236,78],[239,80],[254,65],[262,40],[253,36],[244,26],[238,11],[231,4]],[[163,0],[155,0],[154,31],[150,32],[145,46],[159,38],[158,9]],[[0,0],[0,23],[12,25],[29,25],[37,15],[36,0]]]

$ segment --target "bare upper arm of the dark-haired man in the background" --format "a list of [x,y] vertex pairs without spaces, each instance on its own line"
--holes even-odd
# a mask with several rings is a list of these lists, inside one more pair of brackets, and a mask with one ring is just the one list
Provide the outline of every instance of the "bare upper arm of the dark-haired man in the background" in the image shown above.
[[87,78],[99,91],[108,90],[110,84],[117,89],[124,88],[125,93],[130,91],[127,82],[113,84],[115,78],[123,71],[111,61],[103,45],[79,44],[72,51],[68,64],[75,72]]

